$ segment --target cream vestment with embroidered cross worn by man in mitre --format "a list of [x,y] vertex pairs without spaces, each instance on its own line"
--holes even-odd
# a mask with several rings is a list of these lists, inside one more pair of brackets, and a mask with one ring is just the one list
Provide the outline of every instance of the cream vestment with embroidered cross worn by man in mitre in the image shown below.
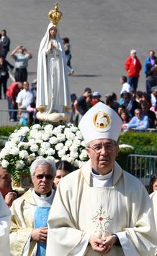
[[120,246],[108,256],[154,256],[157,244],[153,207],[145,187],[115,162],[112,183],[93,187],[91,161],[58,184],[48,220],[46,256],[99,256],[89,245],[117,234]]

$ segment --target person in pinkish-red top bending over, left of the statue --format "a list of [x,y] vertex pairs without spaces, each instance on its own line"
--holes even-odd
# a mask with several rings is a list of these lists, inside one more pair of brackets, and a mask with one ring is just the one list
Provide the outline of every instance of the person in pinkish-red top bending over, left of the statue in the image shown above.
[[17,121],[17,94],[21,90],[20,82],[12,82],[6,90],[6,100],[8,101],[9,120]]

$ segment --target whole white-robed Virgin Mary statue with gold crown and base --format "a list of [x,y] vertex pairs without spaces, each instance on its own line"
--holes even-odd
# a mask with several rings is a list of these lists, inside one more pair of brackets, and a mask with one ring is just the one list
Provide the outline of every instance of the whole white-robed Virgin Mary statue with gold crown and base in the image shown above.
[[62,13],[58,4],[50,10],[50,24],[41,40],[37,60],[37,118],[43,121],[68,121],[71,100],[66,56],[58,32]]

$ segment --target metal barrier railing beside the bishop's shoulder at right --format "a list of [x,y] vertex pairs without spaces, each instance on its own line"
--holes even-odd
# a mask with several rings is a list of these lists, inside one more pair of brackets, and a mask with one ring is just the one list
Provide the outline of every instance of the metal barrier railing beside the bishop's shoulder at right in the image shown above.
[[157,155],[130,154],[127,156],[127,170],[148,187],[151,176],[157,173]]

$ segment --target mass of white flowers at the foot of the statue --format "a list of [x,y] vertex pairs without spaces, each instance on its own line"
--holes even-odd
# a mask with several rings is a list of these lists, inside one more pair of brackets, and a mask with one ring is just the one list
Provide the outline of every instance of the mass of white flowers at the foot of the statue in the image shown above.
[[30,165],[41,156],[57,162],[69,161],[80,168],[88,160],[85,142],[78,127],[73,124],[35,124],[15,130],[0,152],[1,166],[6,168],[15,181],[20,174],[30,174]]

